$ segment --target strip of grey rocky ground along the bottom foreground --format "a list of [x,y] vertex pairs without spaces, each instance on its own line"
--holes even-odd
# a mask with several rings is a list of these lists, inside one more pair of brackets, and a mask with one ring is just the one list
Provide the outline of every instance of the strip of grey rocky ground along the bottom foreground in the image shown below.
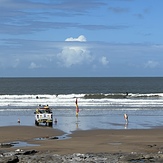
[[52,152],[40,153],[35,150],[23,151],[17,149],[13,152],[0,152],[0,163],[149,163],[163,162],[163,154],[122,154],[122,153],[74,153],[58,155]]

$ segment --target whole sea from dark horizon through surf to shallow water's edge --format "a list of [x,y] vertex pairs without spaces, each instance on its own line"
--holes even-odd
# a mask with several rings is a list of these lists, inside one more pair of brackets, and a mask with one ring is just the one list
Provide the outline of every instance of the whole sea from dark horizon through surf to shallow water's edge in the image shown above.
[[0,126],[35,126],[38,105],[52,109],[53,128],[65,133],[162,127],[163,77],[0,78]]

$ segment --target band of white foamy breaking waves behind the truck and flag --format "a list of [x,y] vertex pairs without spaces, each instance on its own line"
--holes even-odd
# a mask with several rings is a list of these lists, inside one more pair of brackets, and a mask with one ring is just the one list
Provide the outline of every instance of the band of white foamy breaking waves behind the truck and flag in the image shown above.
[[79,107],[84,109],[161,109],[163,106],[163,93],[0,95],[0,111],[34,109],[40,104],[54,109],[72,109],[76,98]]

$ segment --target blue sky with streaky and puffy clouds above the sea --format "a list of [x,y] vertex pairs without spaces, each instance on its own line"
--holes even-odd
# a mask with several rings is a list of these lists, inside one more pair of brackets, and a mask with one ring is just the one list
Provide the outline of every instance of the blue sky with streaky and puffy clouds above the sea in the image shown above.
[[0,77],[162,77],[162,6],[0,0]]

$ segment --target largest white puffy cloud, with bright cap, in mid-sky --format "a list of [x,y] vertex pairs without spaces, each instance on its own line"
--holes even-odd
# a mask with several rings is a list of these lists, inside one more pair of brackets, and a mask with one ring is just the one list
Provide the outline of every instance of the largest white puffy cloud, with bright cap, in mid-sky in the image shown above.
[[[67,38],[65,41],[86,42],[86,38],[85,36],[80,35],[77,38]],[[90,51],[82,44],[71,44],[69,46],[65,46],[63,47],[61,53],[59,53],[57,56],[60,60],[60,64],[65,67],[90,62],[93,59]]]

